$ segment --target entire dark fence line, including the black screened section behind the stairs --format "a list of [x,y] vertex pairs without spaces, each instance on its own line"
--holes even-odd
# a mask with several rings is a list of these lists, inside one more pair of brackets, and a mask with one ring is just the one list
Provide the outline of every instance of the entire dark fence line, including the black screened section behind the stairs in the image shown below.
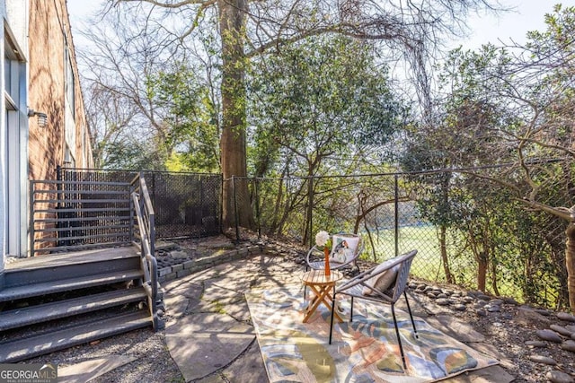
[[[555,172],[560,174],[558,166]],[[144,174],[155,206],[157,238],[219,234],[222,196],[231,190],[231,198],[224,199],[238,238],[241,227],[255,228],[261,235],[296,240],[309,248],[318,231],[353,232],[364,239],[362,257],[367,261],[382,262],[415,248],[415,277],[544,307],[568,304],[567,222],[529,209],[509,189],[487,182],[485,174],[446,170],[225,181],[213,174]],[[96,185],[129,182],[135,175],[108,170],[60,174]],[[570,178],[558,179],[539,200],[550,206],[573,205]]]

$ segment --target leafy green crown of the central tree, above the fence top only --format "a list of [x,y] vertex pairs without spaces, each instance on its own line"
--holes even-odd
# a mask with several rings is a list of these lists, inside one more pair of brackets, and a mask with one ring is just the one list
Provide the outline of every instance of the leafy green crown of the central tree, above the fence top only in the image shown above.
[[317,174],[328,157],[335,159],[328,165],[333,172],[381,150],[403,125],[406,109],[372,53],[364,42],[322,35],[253,64],[249,110],[256,175],[281,166]]

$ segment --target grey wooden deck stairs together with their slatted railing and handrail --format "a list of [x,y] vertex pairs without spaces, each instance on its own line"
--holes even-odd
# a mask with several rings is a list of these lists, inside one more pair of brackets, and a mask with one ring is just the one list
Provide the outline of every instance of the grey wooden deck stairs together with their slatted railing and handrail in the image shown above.
[[142,173],[31,180],[30,229],[31,257],[0,272],[0,363],[164,326]]

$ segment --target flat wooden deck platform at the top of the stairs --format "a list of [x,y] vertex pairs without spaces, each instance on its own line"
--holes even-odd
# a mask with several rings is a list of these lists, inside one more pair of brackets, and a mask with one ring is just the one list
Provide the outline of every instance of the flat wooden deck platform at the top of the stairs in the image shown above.
[[126,246],[121,248],[97,248],[92,250],[75,251],[66,254],[43,255],[37,257],[19,258],[5,265],[5,271],[31,270],[46,266],[90,263],[129,257],[138,257],[137,248]]

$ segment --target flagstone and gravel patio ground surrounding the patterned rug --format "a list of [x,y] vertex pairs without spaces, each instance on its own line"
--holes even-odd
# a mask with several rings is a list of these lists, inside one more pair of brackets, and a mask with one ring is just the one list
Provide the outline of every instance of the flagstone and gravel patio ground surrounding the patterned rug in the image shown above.
[[[262,254],[214,265],[166,282],[163,284],[164,332],[153,334],[141,330],[114,336],[30,362],[60,363],[60,376],[67,376],[62,381],[85,381],[89,377],[96,382],[141,379],[154,382],[266,382],[268,376],[244,293],[301,285],[299,278],[304,267],[298,263],[300,260],[301,254],[292,248],[279,243],[268,244]],[[544,371],[551,369],[542,363],[526,362],[528,347],[524,344],[502,345],[513,342],[509,339],[512,334],[522,333],[527,339],[533,338],[526,331],[526,328],[533,328],[533,321],[527,324],[525,314],[517,306],[502,309],[490,318],[465,323],[464,318],[472,318],[469,313],[439,306],[413,289],[409,296],[414,315],[425,318],[434,328],[473,349],[490,353],[500,360],[499,366],[445,381],[541,381]],[[402,309],[400,303],[398,309]],[[539,315],[535,311],[533,314]],[[513,318],[505,319],[509,316]],[[513,326],[496,325],[503,321]],[[482,326],[486,323],[495,325],[500,334],[492,333],[492,329],[487,330],[489,334],[486,335],[475,330],[479,328],[485,332],[486,328]],[[538,326],[544,324],[538,323]],[[569,355],[566,355],[565,361],[568,360]],[[95,365],[86,364],[91,362]],[[83,376],[83,373],[88,375]]]

